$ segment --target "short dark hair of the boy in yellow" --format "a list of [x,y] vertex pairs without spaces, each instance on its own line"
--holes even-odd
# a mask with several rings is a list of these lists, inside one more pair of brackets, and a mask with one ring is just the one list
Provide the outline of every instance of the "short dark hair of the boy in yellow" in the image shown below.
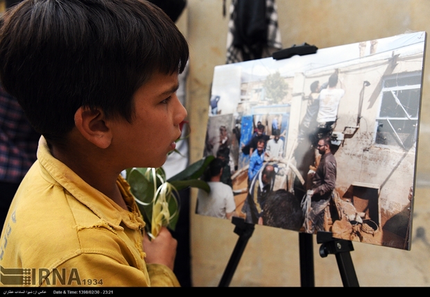
[[62,143],[78,108],[132,122],[133,94],[157,71],[181,73],[188,44],[140,0],[26,0],[3,15],[0,79],[35,130]]

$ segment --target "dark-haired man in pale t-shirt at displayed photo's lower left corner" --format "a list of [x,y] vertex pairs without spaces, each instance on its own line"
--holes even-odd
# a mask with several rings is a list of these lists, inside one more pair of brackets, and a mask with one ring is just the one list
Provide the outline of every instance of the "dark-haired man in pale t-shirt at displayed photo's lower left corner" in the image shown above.
[[232,188],[221,182],[223,161],[216,158],[209,164],[207,184],[211,191],[198,190],[197,213],[221,219],[231,219],[236,216],[236,203]]

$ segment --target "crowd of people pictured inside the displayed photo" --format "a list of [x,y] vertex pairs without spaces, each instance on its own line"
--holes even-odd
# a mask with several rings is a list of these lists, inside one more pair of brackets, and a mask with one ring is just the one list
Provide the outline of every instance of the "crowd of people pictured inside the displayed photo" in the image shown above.
[[[343,84],[340,83],[340,87],[338,85],[336,70],[329,76],[327,83],[320,85],[318,80],[311,83],[311,93],[306,97],[307,110],[300,123],[298,145],[293,157],[300,163],[303,161],[300,157],[306,155],[304,164],[307,171],[303,176],[307,182],[299,187],[295,185],[293,190],[274,187],[280,162],[288,162],[284,160],[286,142],[283,139],[286,137],[286,129],[281,133],[282,127],[276,116],[272,117],[266,126],[257,121],[252,137],[240,147],[241,153],[249,158],[246,199],[240,211],[233,210],[231,177],[235,170],[230,157],[231,141],[227,128],[221,126],[216,160],[209,166],[209,172],[213,171],[212,167],[222,169],[212,172],[206,180],[211,190],[216,191],[213,183],[224,183],[230,187],[230,192],[225,191],[226,194],[220,198],[218,193],[211,191],[212,194],[205,194],[200,191],[197,212],[223,218],[234,215],[243,217],[247,223],[310,233],[327,229],[324,219],[332,201],[337,174],[334,158],[337,147],[332,142],[332,133],[336,125],[338,105],[345,94]],[[266,130],[270,130],[270,133],[266,133]],[[218,198],[215,198],[216,196]],[[207,201],[211,199],[214,205],[219,203],[216,202],[217,199],[224,201],[221,205],[222,212],[209,211],[211,207]],[[203,210],[203,205],[206,210]],[[213,207],[220,207],[217,205]]]

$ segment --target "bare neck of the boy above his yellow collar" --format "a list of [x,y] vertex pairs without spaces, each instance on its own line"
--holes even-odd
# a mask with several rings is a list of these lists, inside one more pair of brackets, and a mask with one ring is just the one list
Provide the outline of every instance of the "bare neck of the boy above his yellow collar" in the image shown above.
[[121,170],[114,169],[112,158],[101,148],[75,139],[71,145],[64,147],[51,146],[51,154],[64,163],[85,183],[112,199],[120,207],[128,210],[121,191],[117,186],[117,179]]

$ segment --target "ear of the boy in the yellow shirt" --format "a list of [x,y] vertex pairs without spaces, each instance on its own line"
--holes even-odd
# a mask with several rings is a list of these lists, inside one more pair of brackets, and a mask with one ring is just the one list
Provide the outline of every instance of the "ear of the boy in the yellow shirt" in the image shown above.
[[103,110],[81,106],[75,112],[75,126],[85,139],[99,148],[107,148],[112,142],[112,130],[107,126]]

